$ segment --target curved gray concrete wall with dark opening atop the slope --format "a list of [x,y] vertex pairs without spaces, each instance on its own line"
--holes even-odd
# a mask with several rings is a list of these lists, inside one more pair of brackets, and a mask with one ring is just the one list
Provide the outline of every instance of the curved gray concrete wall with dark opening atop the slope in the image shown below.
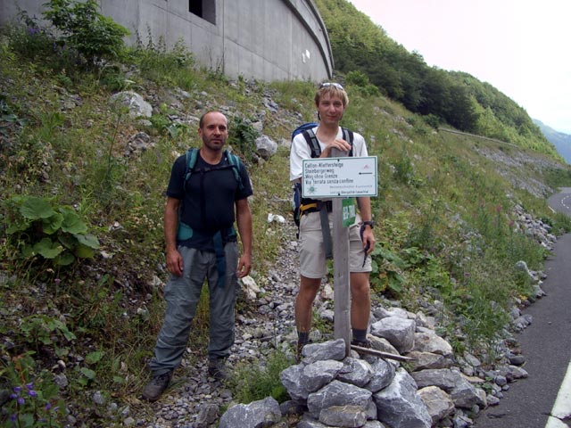
[[[98,0],[103,15],[146,44],[182,41],[196,61],[232,78],[330,78],[333,56],[312,0]],[[41,17],[46,0],[0,0],[0,24],[18,13]],[[192,4],[192,5],[191,5]],[[189,12],[190,8],[193,12]]]

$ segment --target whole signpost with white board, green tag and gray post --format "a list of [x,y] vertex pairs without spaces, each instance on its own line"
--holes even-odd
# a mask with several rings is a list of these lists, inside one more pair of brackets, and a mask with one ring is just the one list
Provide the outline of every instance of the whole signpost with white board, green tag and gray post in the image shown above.
[[334,149],[331,158],[302,161],[302,196],[331,199],[333,205],[333,266],[335,339],[351,350],[351,287],[349,276],[349,226],[355,220],[354,198],[377,196],[377,156],[346,157]]

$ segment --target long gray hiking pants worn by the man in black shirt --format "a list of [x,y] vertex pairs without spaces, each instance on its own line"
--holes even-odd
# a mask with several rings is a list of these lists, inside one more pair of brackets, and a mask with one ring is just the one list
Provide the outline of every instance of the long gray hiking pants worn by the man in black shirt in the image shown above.
[[211,251],[178,247],[184,260],[183,276],[170,276],[165,287],[167,308],[161,333],[154,348],[154,357],[149,363],[153,375],[174,370],[180,365],[186,350],[190,324],[196,314],[204,278],[210,292],[210,342],[209,358],[226,358],[234,344],[234,309],[238,281],[238,248],[236,243],[224,246],[226,280],[224,288],[217,286],[216,255]]

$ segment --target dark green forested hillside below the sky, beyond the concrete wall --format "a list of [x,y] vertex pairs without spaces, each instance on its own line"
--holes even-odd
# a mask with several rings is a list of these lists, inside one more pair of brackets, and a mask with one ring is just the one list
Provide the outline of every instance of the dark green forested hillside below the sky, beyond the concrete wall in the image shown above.
[[[498,138],[558,157],[527,112],[489,83],[462,71],[426,65],[347,0],[317,0],[333,48],[335,69],[360,71],[384,95],[433,126]],[[414,29],[410,29],[414,31]]]

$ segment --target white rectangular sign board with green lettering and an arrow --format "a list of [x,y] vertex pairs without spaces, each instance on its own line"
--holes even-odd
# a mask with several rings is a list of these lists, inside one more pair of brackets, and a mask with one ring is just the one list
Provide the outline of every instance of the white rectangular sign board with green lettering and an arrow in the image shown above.
[[377,156],[304,159],[302,196],[377,196]]

